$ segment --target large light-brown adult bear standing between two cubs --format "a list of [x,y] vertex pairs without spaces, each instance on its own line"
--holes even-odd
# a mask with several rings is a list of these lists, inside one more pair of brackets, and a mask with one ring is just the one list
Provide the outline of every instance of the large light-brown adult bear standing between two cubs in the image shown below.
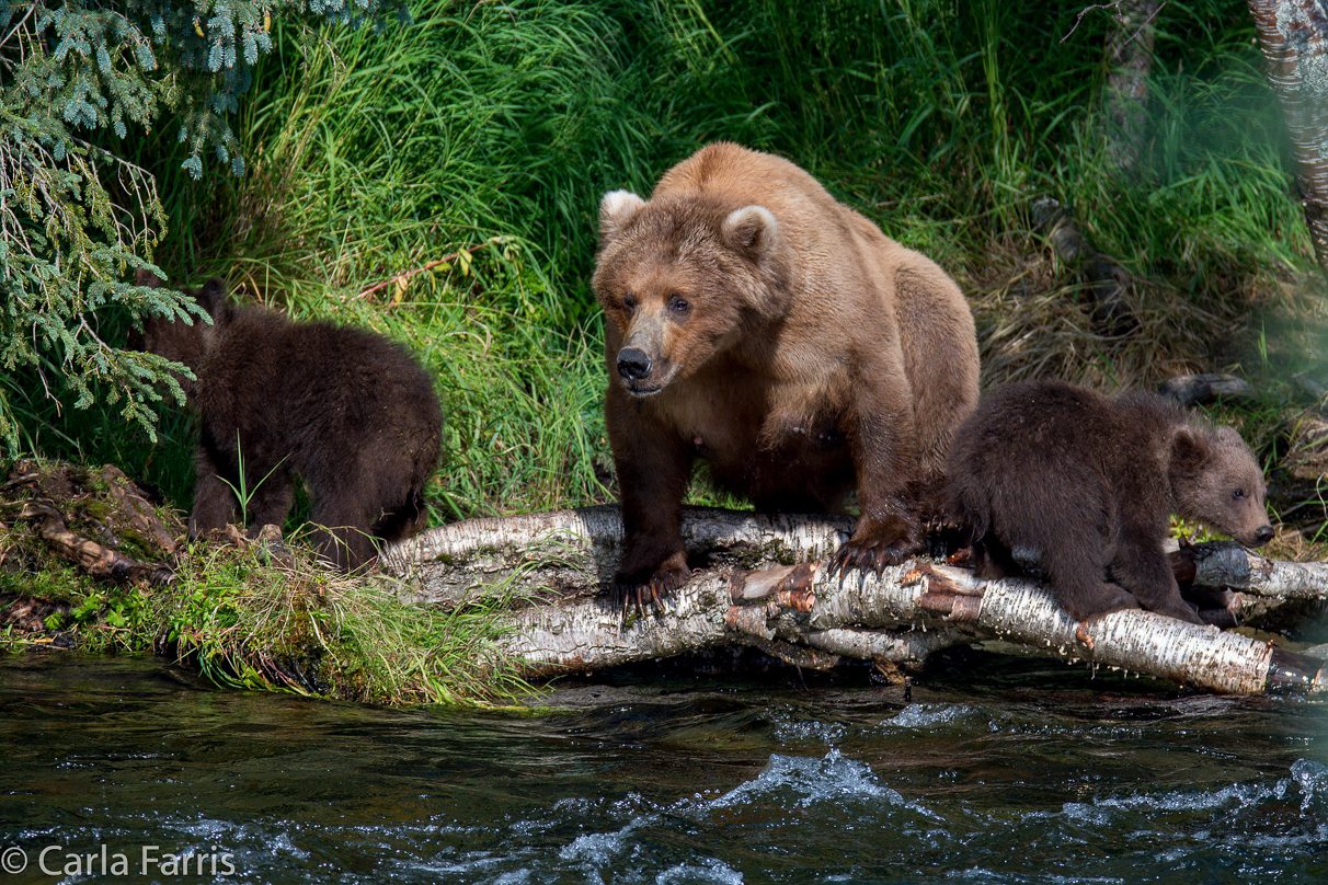
[[950,439],[977,402],[959,287],[793,163],[713,143],[651,199],[600,204],[595,293],[625,549],[615,592],[667,596],[692,463],[761,510],[823,512],[857,490],[834,567],[923,547]]

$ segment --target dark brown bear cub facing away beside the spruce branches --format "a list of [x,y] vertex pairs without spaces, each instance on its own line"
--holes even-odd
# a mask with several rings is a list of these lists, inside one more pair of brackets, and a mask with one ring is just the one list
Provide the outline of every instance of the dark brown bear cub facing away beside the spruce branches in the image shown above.
[[[139,272],[139,285],[158,281]],[[373,557],[374,539],[418,531],[442,414],[414,358],[363,329],[231,306],[220,280],[187,292],[212,324],[150,318],[138,349],[197,378],[183,379],[201,425],[190,535],[235,523],[239,488],[252,495],[250,524],[280,525],[295,476],[309,488],[315,545],[341,569]]]

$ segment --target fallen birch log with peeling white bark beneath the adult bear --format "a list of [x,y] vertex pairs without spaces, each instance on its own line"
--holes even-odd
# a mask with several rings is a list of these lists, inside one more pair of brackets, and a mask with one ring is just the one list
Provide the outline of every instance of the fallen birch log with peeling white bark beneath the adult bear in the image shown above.
[[704,568],[657,613],[624,612],[600,594],[620,555],[616,507],[457,523],[392,548],[382,564],[416,602],[525,600],[502,653],[530,675],[718,645],[753,645],[799,666],[839,657],[918,663],[943,647],[1004,638],[1210,691],[1328,690],[1321,661],[1215,628],[1134,610],[1085,630],[1031,580],[975,582],[965,569],[927,561],[827,580],[819,561],[851,529],[849,517],[688,510],[684,537]]

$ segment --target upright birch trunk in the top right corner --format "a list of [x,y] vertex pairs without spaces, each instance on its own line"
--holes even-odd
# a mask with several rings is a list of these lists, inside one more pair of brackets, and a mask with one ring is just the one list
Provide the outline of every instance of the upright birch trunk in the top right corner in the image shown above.
[[1291,135],[1315,257],[1328,273],[1328,11],[1317,0],[1250,0],[1250,13]]

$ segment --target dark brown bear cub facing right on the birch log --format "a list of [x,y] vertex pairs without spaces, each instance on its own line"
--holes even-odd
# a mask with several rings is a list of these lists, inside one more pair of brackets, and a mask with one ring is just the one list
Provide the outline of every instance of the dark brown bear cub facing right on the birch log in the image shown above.
[[1170,513],[1247,547],[1274,535],[1263,474],[1235,430],[1157,394],[1108,399],[1053,381],[1009,385],[964,422],[948,507],[980,577],[1035,560],[1076,621],[1142,606],[1201,622],[1162,551]]

